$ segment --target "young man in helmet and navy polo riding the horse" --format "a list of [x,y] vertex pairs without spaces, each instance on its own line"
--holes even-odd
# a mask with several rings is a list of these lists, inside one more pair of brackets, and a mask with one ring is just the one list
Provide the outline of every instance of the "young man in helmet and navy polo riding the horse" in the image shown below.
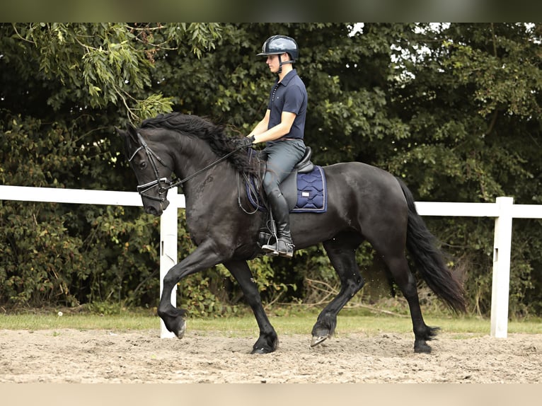
[[298,55],[299,48],[291,37],[273,35],[263,43],[258,56],[267,57],[265,63],[278,78],[271,88],[265,116],[248,134],[253,143],[266,143],[263,156],[267,157],[267,170],[263,188],[277,224],[276,243],[263,245],[262,250],[268,255],[288,258],[294,255],[294,243],[290,234],[288,204],[279,184],[292,172],[305,152],[307,92],[292,66]]

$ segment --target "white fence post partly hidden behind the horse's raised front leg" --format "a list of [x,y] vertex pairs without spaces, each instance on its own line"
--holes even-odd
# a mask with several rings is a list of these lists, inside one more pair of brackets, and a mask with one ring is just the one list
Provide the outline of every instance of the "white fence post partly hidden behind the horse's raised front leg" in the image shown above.
[[[179,195],[177,187],[168,192],[170,204],[160,217],[160,297],[163,290],[163,278],[168,270],[177,263],[177,225]],[[171,304],[177,307],[177,286],[171,291]],[[173,338],[175,334],[168,331],[160,319],[160,338]]]

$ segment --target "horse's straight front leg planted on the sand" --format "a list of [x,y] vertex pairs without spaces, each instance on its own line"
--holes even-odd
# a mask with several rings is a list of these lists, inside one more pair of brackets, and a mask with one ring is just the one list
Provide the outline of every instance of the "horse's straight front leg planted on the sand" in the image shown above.
[[277,332],[275,332],[275,329],[267,318],[260,292],[246,261],[224,262],[224,266],[231,272],[239,286],[241,286],[246,301],[250,308],[252,308],[258,327],[260,327],[260,337],[255,342],[251,354],[268,354],[274,352],[279,346]]

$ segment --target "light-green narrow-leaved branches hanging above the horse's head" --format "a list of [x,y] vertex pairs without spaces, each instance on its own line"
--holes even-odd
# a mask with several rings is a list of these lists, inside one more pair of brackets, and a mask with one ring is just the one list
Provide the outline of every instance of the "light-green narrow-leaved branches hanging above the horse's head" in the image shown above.
[[32,54],[40,79],[62,84],[47,97],[55,111],[75,95],[80,106],[122,105],[134,123],[171,111],[171,99],[159,93],[139,97],[152,85],[156,57],[190,50],[200,57],[219,38],[217,24],[197,23],[4,24],[3,31],[16,52]]

